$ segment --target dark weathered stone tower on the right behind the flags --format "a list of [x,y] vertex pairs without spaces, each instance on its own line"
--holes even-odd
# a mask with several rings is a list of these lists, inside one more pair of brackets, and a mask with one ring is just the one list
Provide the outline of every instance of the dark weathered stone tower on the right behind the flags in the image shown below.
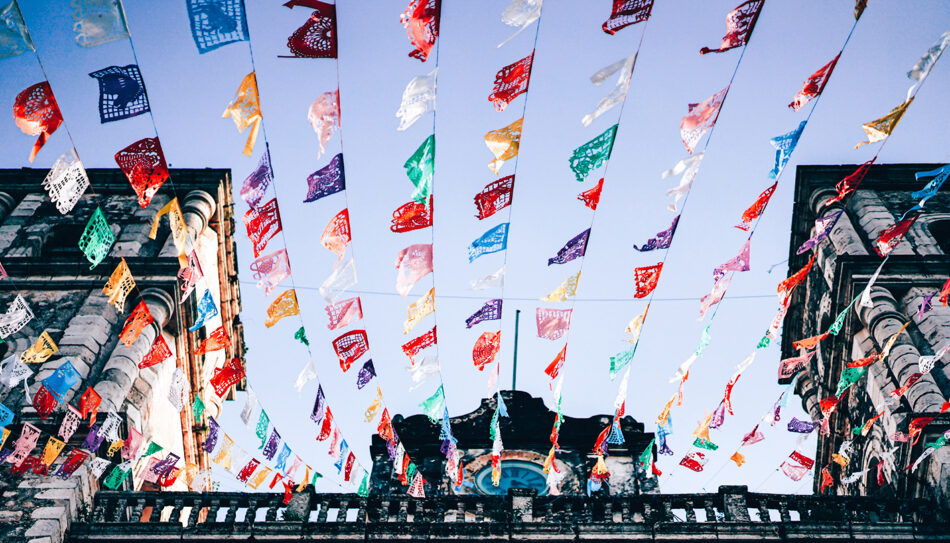
[[[873,250],[874,242],[917,203],[911,193],[926,184],[915,180],[914,174],[939,166],[871,166],[852,197],[829,206],[824,204],[836,193],[835,185],[857,166],[798,168],[789,252],[792,272],[811,257],[811,251],[795,253],[815,234],[815,220],[837,211],[843,213],[829,240],[817,249],[806,281],[792,295],[782,338],[783,358],[798,356],[794,341],[826,332],[837,315],[861,296],[882,262]],[[918,314],[928,296],[940,291],[950,277],[948,189],[950,186],[944,186],[927,202],[924,213],[890,254],[870,290],[871,307],[854,303],[840,333],[818,344],[815,356],[798,377],[795,391],[812,419],[819,421],[820,402],[835,395],[847,364],[880,353],[908,323],[896,336],[886,359],[868,366],[866,375],[842,397],[831,415],[830,434],[818,438],[815,469],[829,466],[837,494],[929,497],[938,503],[950,503],[950,447],[937,449],[917,470],[905,470],[925,444],[950,428],[950,412],[940,413],[950,398],[950,356],[938,360],[906,393],[898,394],[899,398],[891,394],[919,372],[921,356],[933,355],[950,341],[950,307],[943,306],[937,296],[931,299],[932,309]],[[880,413],[883,414],[862,437],[861,429]],[[910,421],[919,417],[933,417],[933,421],[918,440],[901,441],[898,433],[908,433]],[[892,439],[895,434],[896,440]],[[846,454],[850,463],[840,466],[832,455],[841,452],[845,440],[852,441],[853,449]],[[864,469],[869,471],[856,482],[840,482],[843,476]],[[883,485],[879,484],[879,470]],[[820,491],[821,480],[816,475],[816,493]]]

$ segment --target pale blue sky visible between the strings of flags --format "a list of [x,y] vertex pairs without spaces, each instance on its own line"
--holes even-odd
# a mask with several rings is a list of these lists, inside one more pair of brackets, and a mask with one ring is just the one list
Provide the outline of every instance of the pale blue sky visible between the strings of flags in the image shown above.
[[[608,357],[626,346],[621,341],[623,329],[645,303],[632,298],[633,269],[654,264],[660,257],[637,253],[631,245],[643,243],[673,218],[666,210],[664,192],[675,181],[660,179],[660,173],[686,156],[679,120],[687,104],[707,98],[729,81],[740,51],[700,56],[699,49],[719,43],[725,15],[737,3],[656,2],[584,261],[566,365],[563,397],[568,415],[612,410],[618,382],[607,377]],[[53,4],[57,7],[51,8]],[[153,136],[152,126],[145,116],[100,125],[96,83],[87,74],[133,63],[131,49],[128,41],[93,49],[77,47],[68,4],[66,0],[30,0],[21,6],[80,156],[87,167],[114,167],[113,154],[132,141]],[[517,119],[525,100],[519,97],[508,110],[498,113],[487,95],[495,72],[530,53],[534,38],[531,28],[501,49],[495,47],[512,32],[500,22],[506,5],[504,0],[445,0],[442,7],[434,278],[439,354],[452,415],[469,412],[485,395],[487,372],[474,369],[471,349],[478,335],[497,329],[498,324],[483,323],[471,330],[464,327],[464,319],[485,299],[498,296],[497,292],[468,290],[469,281],[494,272],[503,262],[501,254],[483,256],[472,264],[466,258],[468,244],[504,220],[503,213],[485,221],[474,217],[472,197],[497,178],[486,167],[491,155],[482,137]],[[600,25],[609,5],[607,0],[548,0],[527,98],[511,208],[499,358],[503,361],[501,382],[508,386],[514,310],[521,309],[518,385],[544,397],[549,405],[548,380],[542,370],[562,344],[536,337],[534,309],[542,304],[534,300],[577,271],[578,262],[548,267],[547,258],[590,225],[590,211],[576,195],[600,177],[592,174],[587,182],[577,183],[568,168],[568,157],[575,147],[617,122],[620,111],[613,109],[590,127],[581,125],[581,117],[610,91],[614,81],[611,78],[595,87],[588,78],[632,54],[643,31],[641,24],[615,36],[604,34]],[[306,176],[341,149],[340,138],[334,137],[328,152],[318,158],[316,137],[306,118],[309,104],[320,93],[336,88],[337,66],[332,60],[276,58],[286,54],[286,37],[309,12],[288,10],[277,1],[248,2],[267,135],[303,321],[334,414],[364,465],[369,464],[366,447],[375,423],[363,423],[362,416],[374,388],[357,391],[356,370],[343,374],[333,354],[330,341],[337,333],[325,327],[326,304],[315,288],[332,271],[336,255],[320,246],[316,238],[348,203],[351,250],[355,250],[360,278],[357,290],[378,383],[391,412],[418,412],[417,405],[437,382],[409,392],[411,383],[403,369],[408,361],[400,345],[413,336],[402,334],[402,322],[406,306],[432,286],[433,278],[425,278],[403,299],[395,294],[393,260],[400,249],[412,243],[430,242],[432,233],[393,234],[388,227],[392,211],[409,200],[412,188],[402,164],[432,129],[432,117],[426,116],[409,130],[397,132],[394,114],[406,83],[431,71],[435,58],[423,64],[407,56],[410,46],[399,23],[404,7],[402,0],[340,2],[342,149],[348,190],[346,201],[335,195],[304,204]],[[263,139],[259,139],[254,157],[245,157],[241,154],[245,136],[237,133],[229,119],[222,119],[221,112],[251,70],[247,43],[198,55],[183,1],[128,0],[125,8],[169,163],[174,167],[230,168],[239,187],[255,167]],[[696,320],[698,298],[712,286],[712,269],[734,256],[745,240],[745,234],[733,225],[770,184],[766,175],[774,152],[768,140],[804,119],[804,110],[795,113],[786,104],[802,81],[838,52],[853,22],[852,8],[850,0],[773,0],[763,9],[680,220],[632,363],[627,413],[650,429],[674,391],[669,377],[693,352],[705,326]],[[775,492],[810,491],[807,482],[794,483],[782,474],[770,477],[795,446],[797,435],[785,431],[784,420],[766,432],[765,441],[744,451],[748,458],[745,466],[736,468],[729,463],[719,471],[741,436],[781,392],[782,387],[775,384],[779,352],[774,345],[759,353],[736,385],[736,416],[713,432],[721,449],[711,454],[706,471],[697,474],[674,466],[692,442],[692,430],[704,410],[716,407],[735,366],[755,347],[777,309],[777,298],[772,295],[787,270],[781,264],[769,273],[769,267],[788,253],[793,168],[797,164],[860,163],[873,156],[872,146],[851,149],[863,139],[861,123],[883,115],[904,98],[910,85],[907,70],[948,27],[950,7],[944,2],[871,2],[756,232],[752,271],[733,280],[711,328],[712,343],[690,374],[684,406],[674,411],[676,434],[670,443],[677,454],[660,460],[660,469],[673,473],[663,478],[663,491],[714,490],[719,484],[747,484]],[[32,55],[4,60],[2,68],[0,94],[8,105],[17,92],[43,78]],[[948,85],[950,71],[938,65],[879,163],[948,160],[950,114],[943,101]],[[32,139],[21,134],[12,120],[0,126],[0,134],[5,143],[0,166],[28,166]],[[49,167],[67,148],[65,132],[60,130],[34,167]],[[513,164],[509,163],[499,176],[511,173]],[[239,198],[235,200],[239,217],[246,207]],[[243,230],[240,222],[238,226]],[[280,241],[275,239],[271,246],[278,247]],[[238,248],[242,281],[247,281],[252,255],[243,232],[238,236]],[[316,382],[309,383],[299,396],[293,389],[306,362],[306,351],[293,340],[299,321],[288,319],[265,329],[264,310],[271,298],[249,283],[242,283],[241,290],[241,317],[250,347],[249,383],[295,452],[317,469],[329,472],[332,467],[325,445],[313,441],[317,429],[308,418]],[[415,331],[421,333],[432,324],[430,317]],[[240,445],[252,450],[253,436],[237,417],[240,408],[241,402],[229,405],[222,422]],[[795,398],[786,413],[786,418],[804,417]],[[814,452],[813,439],[805,450]],[[227,476],[222,478],[222,486],[237,487]]]

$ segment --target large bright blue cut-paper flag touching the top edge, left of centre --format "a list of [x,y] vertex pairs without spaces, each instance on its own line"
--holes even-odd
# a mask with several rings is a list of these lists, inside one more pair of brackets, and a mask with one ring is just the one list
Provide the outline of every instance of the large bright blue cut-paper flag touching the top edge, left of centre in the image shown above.
[[187,6],[191,37],[199,54],[247,41],[247,18],[242,0],[188,0]]

